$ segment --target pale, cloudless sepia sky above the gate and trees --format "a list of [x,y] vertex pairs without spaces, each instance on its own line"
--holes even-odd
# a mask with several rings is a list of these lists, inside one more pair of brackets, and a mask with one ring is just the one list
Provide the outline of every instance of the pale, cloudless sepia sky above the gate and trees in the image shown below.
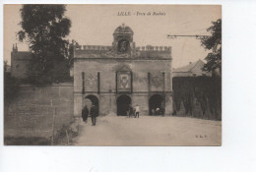
[[[19,51],[29,50],[19,42],[22,5],[4,5],[4,59],[10,64],[14,43]],[[198,59],[208,51],[195,37],[167,38],[166,34],[205,34],[212,22],[222,18],[222,7],[211,5],[67,5],[65,16],[72,22],[67,39],[81,45],[111,45],[113,31],[125,24],[134,31],[136,46],[171,46],[172,67],[178,68]],[[118,16],[118,12],[130,16]],[[162,15],[155,16],[154,13]],[[140,14],[140,15],[138,15]],[[143,16],[142,14],[145,14]]]

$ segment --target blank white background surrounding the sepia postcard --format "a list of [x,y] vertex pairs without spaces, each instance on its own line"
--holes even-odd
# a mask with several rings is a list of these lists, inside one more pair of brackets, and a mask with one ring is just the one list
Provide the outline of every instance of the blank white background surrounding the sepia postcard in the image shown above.
[[[72,0],[4,0],[3,4],[77,3]],[[87,1],[115,4],[120,1]],[[169,1],[122,1],[168,4]],[[253,0],[173,0],[171,4],[223,5],[223,146],[3,146],[0,118],[0,171],[3,172],[226,172],[256,169],[256,2]],[[3,20],[2,20],[3,21]],[[3,35],[3,22],[0,23]],[[3,38],[0,51],[3,55]],[[0,61],[3,67],[3,60]],[[3,95],[3,69],[1,95]],[[2,96],[3,97],[3,96]],[[1,99],[3,105],[3,98]],[[1,106],[3,113],[3,106]]]

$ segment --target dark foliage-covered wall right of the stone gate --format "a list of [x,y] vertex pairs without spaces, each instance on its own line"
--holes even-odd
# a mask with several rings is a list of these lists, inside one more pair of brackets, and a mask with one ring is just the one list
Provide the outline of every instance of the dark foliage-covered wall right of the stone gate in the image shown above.
[[222,80],[219,77],[174,77],[173,101],[175,109],[180,111],[181,102],[185,113],[194,116],[195,99],[200,103],[203,117],[221,119],[222,115]]

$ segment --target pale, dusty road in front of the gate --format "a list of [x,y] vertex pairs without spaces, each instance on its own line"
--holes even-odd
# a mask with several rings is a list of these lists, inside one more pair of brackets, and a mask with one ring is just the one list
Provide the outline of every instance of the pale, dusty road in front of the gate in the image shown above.
[[186,117],[117,116],[81,121],[76,145],[221,145],[222,122]]

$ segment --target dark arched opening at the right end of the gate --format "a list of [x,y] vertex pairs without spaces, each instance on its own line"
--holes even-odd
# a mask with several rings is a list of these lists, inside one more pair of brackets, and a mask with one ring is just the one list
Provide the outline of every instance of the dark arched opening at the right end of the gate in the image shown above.
[[149,107],[150,107],[150,115],[153,115],[153,109],[154,111],[156,111],[157,108],[165,108],[163,97],[160,94],[152,95],[149,100]]

